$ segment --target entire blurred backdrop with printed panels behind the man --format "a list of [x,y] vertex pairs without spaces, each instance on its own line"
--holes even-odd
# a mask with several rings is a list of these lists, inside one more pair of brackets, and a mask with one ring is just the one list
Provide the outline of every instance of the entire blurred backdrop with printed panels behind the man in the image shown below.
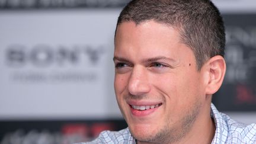
[[[73,143],[126,127],[114,95],[114,30],[127,0],[0,0],[0,144]],[[256,1],[213,1],[227,72],[213,103],[256,121]]]

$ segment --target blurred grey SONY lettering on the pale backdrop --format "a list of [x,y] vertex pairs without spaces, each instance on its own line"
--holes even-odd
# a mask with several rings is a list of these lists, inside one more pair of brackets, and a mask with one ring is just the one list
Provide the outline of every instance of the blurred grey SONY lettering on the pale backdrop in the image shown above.
[[75,45],[75,46],[50,46],[37,44],[27,47],[23,44],[8,46],[5,61],[9,67],[20,68],[27,65],[36,67],[66,66],[89,63],[97,65],[104,55],[103,46]]

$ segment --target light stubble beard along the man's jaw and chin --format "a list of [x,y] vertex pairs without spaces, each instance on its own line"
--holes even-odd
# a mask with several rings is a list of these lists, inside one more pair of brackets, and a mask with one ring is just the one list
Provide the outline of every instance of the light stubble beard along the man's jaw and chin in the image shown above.
[[159,130],[159,132],[156,133],[155,135],[151,135],[148,137],[137,137],[136,135],[133,136],[135,137],[137,142],[139,141],[144,143],[164,144],[179,142],[181,139],[183,139],[183,137],[187,135],[188,132],[190,132],[191,127],[194,124],[194,121],[196,121],[197,116],[199,115],[200,107],[201,104],[199,103],[199,101],[196,101],[196,103],[190,109],[192,111],[188,111],[187,114],[185,114],[181,119],[181,123],[177,124],[176,126],[168,127],[170,125],[168,123],[167,126]]

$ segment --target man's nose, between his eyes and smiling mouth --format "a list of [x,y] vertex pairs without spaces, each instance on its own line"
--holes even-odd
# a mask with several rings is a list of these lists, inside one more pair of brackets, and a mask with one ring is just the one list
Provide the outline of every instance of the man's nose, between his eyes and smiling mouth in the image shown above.
[[134,66],[129,78],[129,93],[132,95],[145,95],[151,90],[146,69],[142,66]]

